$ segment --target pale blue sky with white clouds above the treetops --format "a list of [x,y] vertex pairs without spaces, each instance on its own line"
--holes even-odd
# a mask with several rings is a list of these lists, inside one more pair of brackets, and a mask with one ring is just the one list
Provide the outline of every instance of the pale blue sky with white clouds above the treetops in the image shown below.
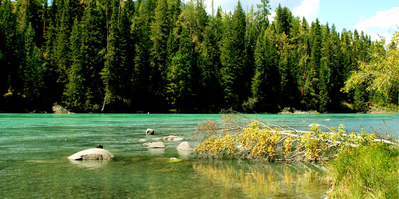
[[[238,0],[213,0],[214,9],[221,5],[223,11],[234,11]],[[204,0],[206,11],[211,13],[212,0]],[[251,5],[256,9],[260,0],[241,0],[244,10]],[[275,16],[278,4],[287,6],[294,16],[305,17],[308,23],[319,19],[321,24],[334,23],[336,30],[355,28],[364,31],[372,40],[380,40],[380,36],[391,41],[395,31],[399,31],[399,0],[270,0],[271,17]]]

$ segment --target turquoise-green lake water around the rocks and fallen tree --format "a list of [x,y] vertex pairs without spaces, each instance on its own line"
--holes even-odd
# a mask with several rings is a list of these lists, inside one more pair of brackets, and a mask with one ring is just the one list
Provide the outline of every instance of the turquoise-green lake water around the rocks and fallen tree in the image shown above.
[[[255,115],[251,115],[255,116]],[[398,137],[399,114],[256,115],[306,130],[312,122]],[[197,159],[180,142],[149,150],[139,139],[190,133],[217,114],[0,114],[0,198],[324,198],[324,171],[302,163]],[[331,119],[325,121],[324,119]],[[388,126],[380,126],[385,119]],[[145,135],[153,128],[155,135]],[[70,161],[101,144],[113,160]],[[174,162],[170,158],[182,161]]]

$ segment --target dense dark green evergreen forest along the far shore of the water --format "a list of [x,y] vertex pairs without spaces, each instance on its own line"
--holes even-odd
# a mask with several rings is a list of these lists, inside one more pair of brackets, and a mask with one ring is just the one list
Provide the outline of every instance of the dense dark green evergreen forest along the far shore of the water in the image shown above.
[[380,43],[280,5],[273,20],[260,1],[209,14],[203,0],[0,0],[0,111],[338,112],[382,100],[340,92]]

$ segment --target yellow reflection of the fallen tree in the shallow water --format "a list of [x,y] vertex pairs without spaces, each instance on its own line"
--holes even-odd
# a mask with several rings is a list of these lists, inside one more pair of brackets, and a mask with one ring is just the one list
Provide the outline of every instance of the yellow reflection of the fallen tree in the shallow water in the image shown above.
[[306,163],[194,162],[193,168],[213,182],[221,193],[237,192],[249,198],[324,198],[327,184],[321,166]]

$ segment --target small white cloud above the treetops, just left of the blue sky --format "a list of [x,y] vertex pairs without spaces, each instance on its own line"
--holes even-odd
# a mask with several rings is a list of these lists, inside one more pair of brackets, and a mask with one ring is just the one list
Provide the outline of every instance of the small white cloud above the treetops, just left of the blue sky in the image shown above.
[[292,10],[294,16],[305,17],[308,21],[315,21],[320,12],[320,0],[302,0],[301,4]]

